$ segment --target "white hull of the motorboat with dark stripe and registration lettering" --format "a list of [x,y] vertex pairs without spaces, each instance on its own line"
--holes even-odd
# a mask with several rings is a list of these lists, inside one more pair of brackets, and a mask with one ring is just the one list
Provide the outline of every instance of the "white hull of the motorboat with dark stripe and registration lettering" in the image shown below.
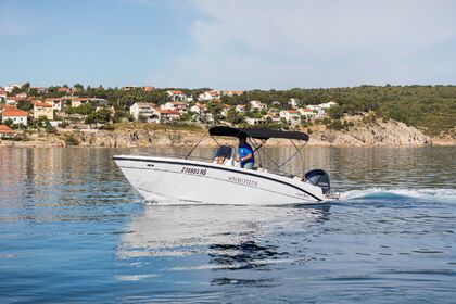
[[315,204],[321,188],[301,180],[193,160],[117,155],[128,181],[147,200],[160,204]]

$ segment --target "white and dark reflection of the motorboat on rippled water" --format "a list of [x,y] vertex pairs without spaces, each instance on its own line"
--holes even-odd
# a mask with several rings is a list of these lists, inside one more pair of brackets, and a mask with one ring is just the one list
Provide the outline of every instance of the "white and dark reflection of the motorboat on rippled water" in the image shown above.
[[[274,244],[261,245],[270,233],[305,232],[306,227],[329,219],[321,207],[251,207],[224,205],[145,206],[144,215],[128,226],[117,254],[139,256],[190,256],[207,254],[206,265],[191,268],[253,268],[287,258]],[[284,231],[282,231],[284,233]],[[176,267],[173,269],[186,269]]]

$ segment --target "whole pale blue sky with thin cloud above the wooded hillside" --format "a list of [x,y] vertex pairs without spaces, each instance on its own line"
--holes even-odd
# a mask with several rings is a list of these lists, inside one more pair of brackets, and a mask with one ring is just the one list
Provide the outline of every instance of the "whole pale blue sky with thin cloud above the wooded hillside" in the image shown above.
[[456,85],[454,0],[0,0],[0,86]]

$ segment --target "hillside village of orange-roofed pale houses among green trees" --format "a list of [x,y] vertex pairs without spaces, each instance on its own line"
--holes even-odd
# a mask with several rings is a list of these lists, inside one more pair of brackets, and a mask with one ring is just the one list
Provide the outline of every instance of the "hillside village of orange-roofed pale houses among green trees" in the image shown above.
[[331,100],[304,104],[297,98],[290,98],[287,103],[273,101],[267,104],[262,100],[251,100],[249,92],[241,90],[211,89],[189,94],[177,89],[161,89],[166,94],[163,93],[159,100],[147,100],[148,93],[156,90],[151,86],[126,86],[118,90],[142,93],[142,97],[138,99],[135,94],[126,94],[119,106],[118,99],[109,100],[97,93],[90,96],[87,93],[89,90],[84,90],[80,85],[43,88],[31,87],[27,83],[0,87],[0,137],[14,138],[30,129],[49,132],[58,129],[109,129],[113,123],[135,122],[302,129],[312,122],[324,119],[328,110],[338,105]]

